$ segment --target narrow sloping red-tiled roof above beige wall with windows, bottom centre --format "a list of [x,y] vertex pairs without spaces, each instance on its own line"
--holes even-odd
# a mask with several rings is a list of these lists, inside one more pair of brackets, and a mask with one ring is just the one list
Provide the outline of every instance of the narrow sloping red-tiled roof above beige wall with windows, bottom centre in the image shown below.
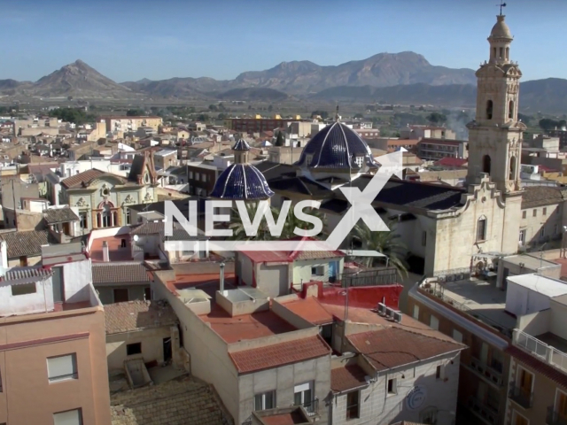
[[230,359],[234,362],[239,374],[257,372],[328,355],[330,355],[329,345],[325,344],[320,336],[309,336],[241,352],[229,352]]

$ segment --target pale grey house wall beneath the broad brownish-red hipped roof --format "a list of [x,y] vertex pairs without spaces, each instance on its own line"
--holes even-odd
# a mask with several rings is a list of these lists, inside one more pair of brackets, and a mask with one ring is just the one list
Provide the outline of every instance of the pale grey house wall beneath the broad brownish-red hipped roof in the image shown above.
[[[441,379],[436,379],[437,367],[442,367]],[[388,380],[397,380],[397,393],[388,394]],[[425,388],[423,404],[410,410],[407,404],[409,391],[416,385]],[[361,390],[360,419],[346,421],[346,393],[332,399],[332,423],[393,423],[396,421],[421,422],[420,413],[434,406],[439,409],[438,425],[454,423],[459,385],[459,354],[452,353],[417,365],[400,367],[378,376],[377,382]]]

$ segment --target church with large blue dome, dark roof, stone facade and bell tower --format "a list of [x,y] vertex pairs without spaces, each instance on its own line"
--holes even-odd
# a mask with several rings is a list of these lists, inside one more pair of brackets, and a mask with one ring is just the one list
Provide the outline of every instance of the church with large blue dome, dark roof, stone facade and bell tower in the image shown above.
[[[468,124],[465,188],[392,176],[374,199],[384,222],[397,222],[395,232],[407,247],[408,263],[416,274],[456,277],[483,267],[493,256],[518,251],[524,194],[519,161],[525,126],[517,118],[522,73],[510,59],[512,40],[504,16],[498,16],[488,37],[488,60],[476,73],[477,110]],[[278,168],[276,173],[274,167],[261,166],[276,193],[272,205],[284,199],[319,200],[331,231],[350,207],[339,188],[362,191],[378,165],[367,143],[337,119],[314,135],[297,163]]]

